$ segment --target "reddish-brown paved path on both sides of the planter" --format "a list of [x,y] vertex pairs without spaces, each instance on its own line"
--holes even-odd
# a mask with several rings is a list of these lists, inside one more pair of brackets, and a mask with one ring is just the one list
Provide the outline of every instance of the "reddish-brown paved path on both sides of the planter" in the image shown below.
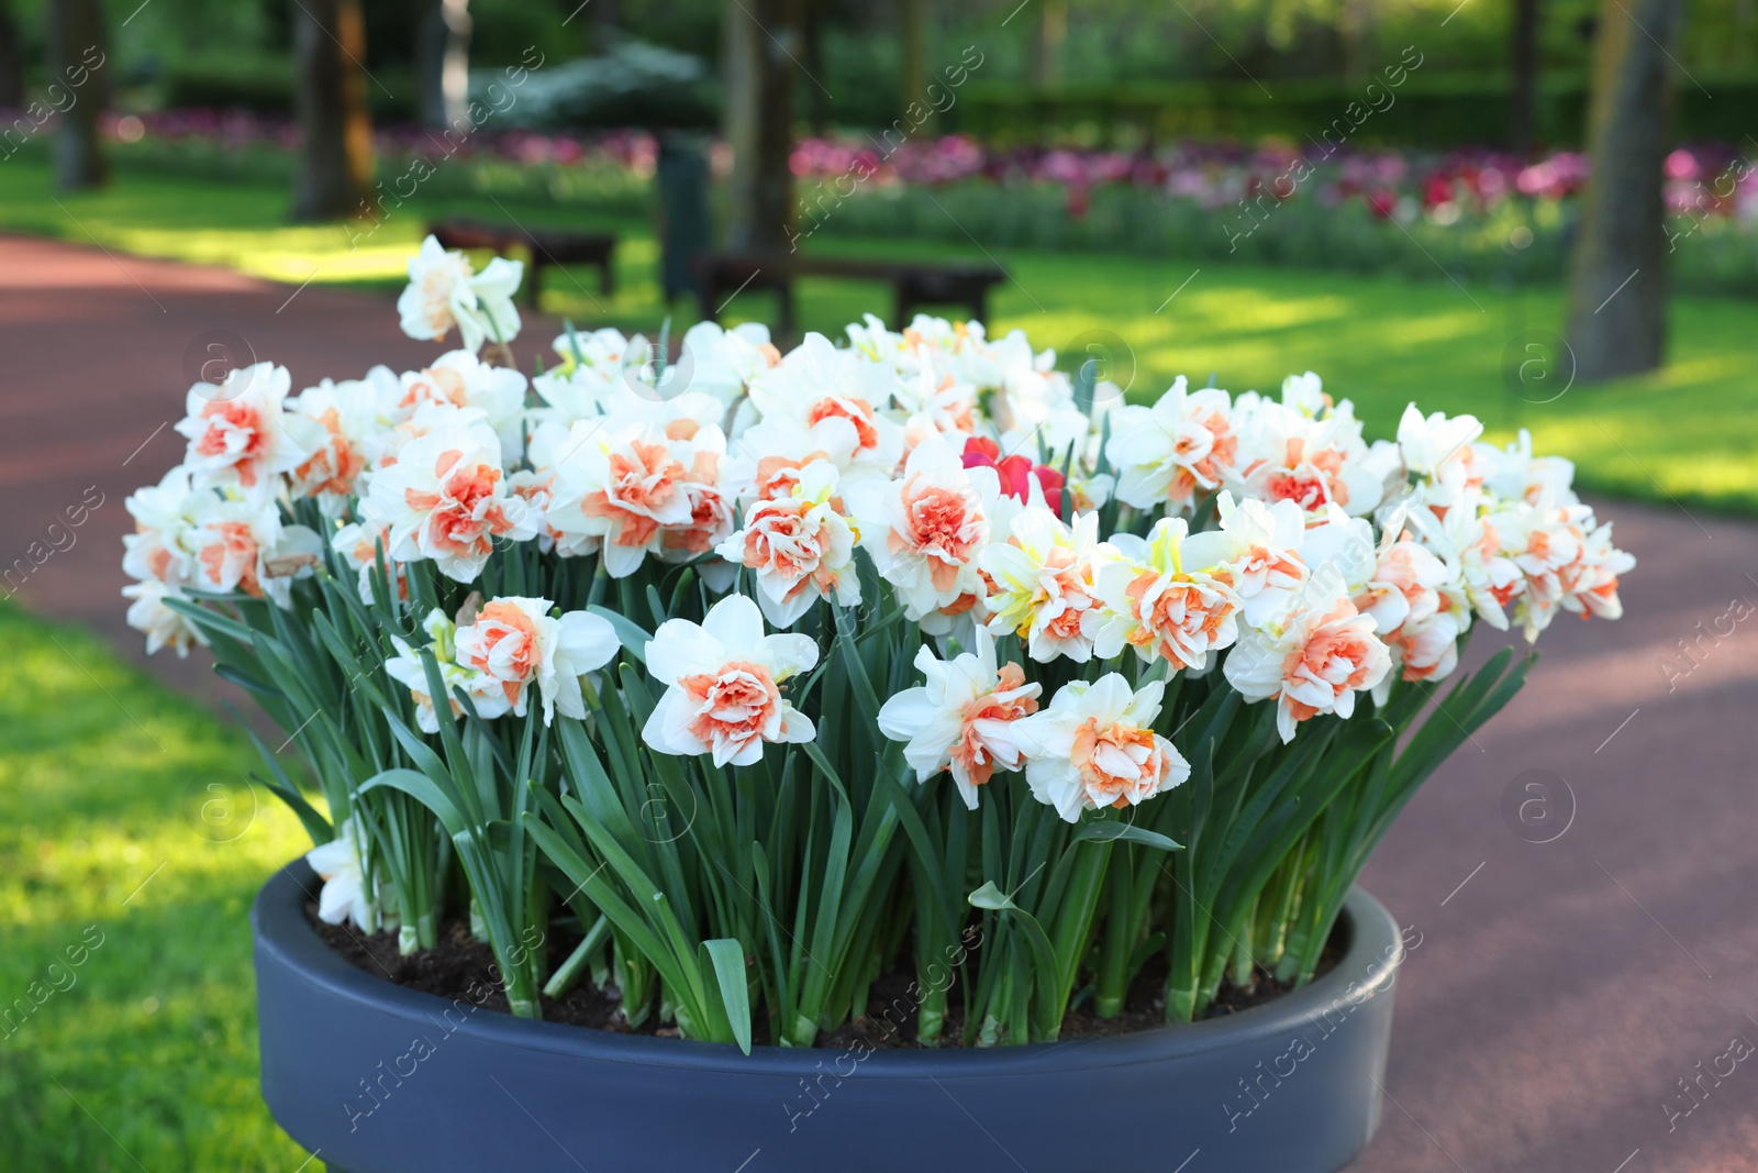
[[[524,366],[550,325],[527,324]],[[49,528],[102,494],[19,594],[135,659],[123,498],[179,459],[190,353],[216,339],[285,362],[295,389],[432,355],[385,301],[0,236],[0,568],[33,542],[67,545]],[[1758,1046],[1758,526],[1600,505],[1640,561],[1628,617],[1559,619],[1524,696],[1368,867],[1420,944],[1398,987],[1384,1124],[1352,1173],[1758,1169],[1758,1055],[1732,1073],[1721,1059],[1733,1039]],[[1480,630],[1473,659],[1496,638]],[[213,693],[195,658],[149,667]],[[1554,830],[1503,814],[1526,781],[1549,783]],[[1526,809],[1535,827],[1544,812]],[[1215,1090],[1217,1113],[1229,1094]],[[1241,1127],[1276,1127],[1275,1103]],[[1185,1166],[1231,1169],[1222,1152]]]

